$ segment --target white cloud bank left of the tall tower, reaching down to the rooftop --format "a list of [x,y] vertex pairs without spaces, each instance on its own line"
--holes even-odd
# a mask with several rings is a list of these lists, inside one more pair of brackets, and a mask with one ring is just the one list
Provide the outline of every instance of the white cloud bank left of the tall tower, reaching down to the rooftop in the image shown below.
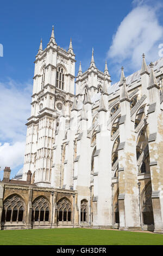
[[0,91],[0,166],[14,170],[23,164],[32,84],[9,79],[0,82]]

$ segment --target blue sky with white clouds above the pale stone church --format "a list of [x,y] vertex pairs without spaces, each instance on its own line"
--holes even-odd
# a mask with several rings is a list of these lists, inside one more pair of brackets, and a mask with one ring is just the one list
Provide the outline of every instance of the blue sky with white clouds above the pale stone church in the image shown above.
[[[160,58],[163,43],[161,1],[4,1],[1,3],[0,44],[0,166],[10,166],[11,176],[22,167],[26,119],[30,115],[34,60],[42,38],[43,48],[51,36],[67,48],[72,38],[85,71],[92,47],[95,63],[104,70],[105,60],[113,82],[121,66],[125,75],[140,69],[141,54],[147,63]],[[0,172],[2,179],[2,172]]]

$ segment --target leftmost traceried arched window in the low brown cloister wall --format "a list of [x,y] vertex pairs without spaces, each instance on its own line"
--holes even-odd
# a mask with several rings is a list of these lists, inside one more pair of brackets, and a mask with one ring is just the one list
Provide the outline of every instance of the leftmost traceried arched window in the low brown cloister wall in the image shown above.
[[25,204],[21,197],[11,195],[4,200],[2,222],[21,222],[24,217]]

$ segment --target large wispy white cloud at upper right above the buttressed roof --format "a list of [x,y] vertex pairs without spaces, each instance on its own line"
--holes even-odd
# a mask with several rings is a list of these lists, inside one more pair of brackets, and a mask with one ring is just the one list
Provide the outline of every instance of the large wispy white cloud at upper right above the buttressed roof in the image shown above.
[[145,1],[134,3],[137,6],[124,17],[108,51],[108,58],[114,63],[133,70],[140,69],[142,53],[146,53],[147,62],[159,58],[158,45],[163,35],[157,8],[144,4]]

